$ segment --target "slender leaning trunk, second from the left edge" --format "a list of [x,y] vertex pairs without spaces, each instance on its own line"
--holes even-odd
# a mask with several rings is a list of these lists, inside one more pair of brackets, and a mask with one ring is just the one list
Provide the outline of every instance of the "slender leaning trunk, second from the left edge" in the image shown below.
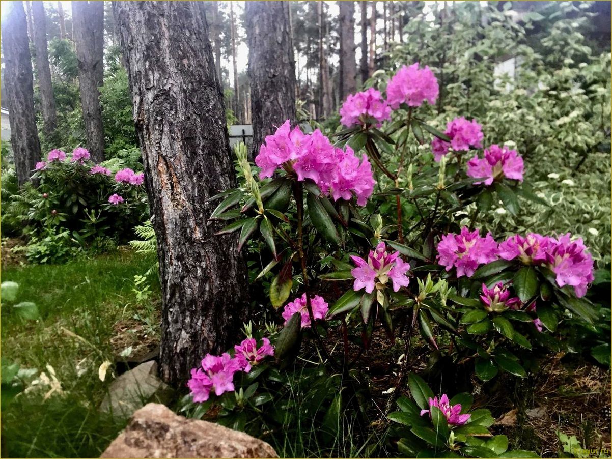
[[58,125],[51,84],[51,69],[47,50],[47,25],[45,24],[45,7],[42,0],[32,2],[32,17],[34,18],[34,47],[36,50],[36,70],[38,73],[40,105],[45,135],[51,138]]

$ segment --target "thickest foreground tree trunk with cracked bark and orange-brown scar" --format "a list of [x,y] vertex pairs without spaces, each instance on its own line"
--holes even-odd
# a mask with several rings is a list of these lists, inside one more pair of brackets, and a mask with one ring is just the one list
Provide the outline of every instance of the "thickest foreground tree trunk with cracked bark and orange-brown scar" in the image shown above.
[[218,190],[236,185],[223,94],[200,2],[113,2],[162,278],[160,372],[180,384],[239,340],[247,269],[237,236],[214,236]]

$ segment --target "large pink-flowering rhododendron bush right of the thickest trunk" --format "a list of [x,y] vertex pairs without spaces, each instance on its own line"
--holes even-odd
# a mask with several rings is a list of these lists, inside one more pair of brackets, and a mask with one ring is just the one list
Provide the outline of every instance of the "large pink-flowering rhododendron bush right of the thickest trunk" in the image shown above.
[[[266,292],[267,321],[258,332],[249,324],[248,346],[204,357],[185,409],[201,416],[200,401],[254,409],[245,394],[259,391],[262,400],[283,399],[282,388],[303,378],[289,369],[304,359],[330,381],[341,376],[329,410],[350,411],[371,384],[361,356],[374,352],[375,339],[397,340],[403,353],[389,362],[394,383],[380,409],[411,428],[400,450],[501,454],[507,438],[490,438],[487,410],[470,412],[467,394],[433,394],[414,374],[412,343],[420,335],[433,361],[482,382],[526,378],[534,361],[565,345],[559,324],[594,325],[594,261],[571,228],[488,228],[493,201],[513,215],[546,204],[515,140],[490,144],[465,116],[436,129],[428,115],[440,88],[428,65],[387,76],[346,97],[336,132],[306,133],[293,120],[275,127],[255,151],[258,169],[236,147],[241,187],[211,198],[220,201],[211,219],[227,221],[219,234],[239,234],[237,250],[258,253],[252,282]],[[407,384],[412,400],[397,400]],[[401,411],[390,412],[395,400]],[[236,410],[226,408],[225,422],[244,414]],[[270,416],[281,415],[274,408]],[[330,416],[319,419],[323,430]]]

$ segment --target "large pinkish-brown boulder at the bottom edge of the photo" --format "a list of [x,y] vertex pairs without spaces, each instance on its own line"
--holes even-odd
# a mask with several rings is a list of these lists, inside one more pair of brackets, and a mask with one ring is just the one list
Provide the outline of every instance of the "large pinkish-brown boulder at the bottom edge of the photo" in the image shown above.
[[274,449],[244,432],[177,416],[149,403],[134,413],[102,458],[276,458]]

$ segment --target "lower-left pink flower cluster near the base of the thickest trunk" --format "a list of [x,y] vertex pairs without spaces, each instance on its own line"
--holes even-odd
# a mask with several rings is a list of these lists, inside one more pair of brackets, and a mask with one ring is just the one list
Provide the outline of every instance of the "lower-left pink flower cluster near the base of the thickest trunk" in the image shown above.
[[217,396],[231,392],[234,390],[234,373],[240,370],[238,361],[232,359],[228,353],[222,356],[206,354],[201,368],[193,368],[192,377],[187,381],[193,401],[208,400],[213,390]]

